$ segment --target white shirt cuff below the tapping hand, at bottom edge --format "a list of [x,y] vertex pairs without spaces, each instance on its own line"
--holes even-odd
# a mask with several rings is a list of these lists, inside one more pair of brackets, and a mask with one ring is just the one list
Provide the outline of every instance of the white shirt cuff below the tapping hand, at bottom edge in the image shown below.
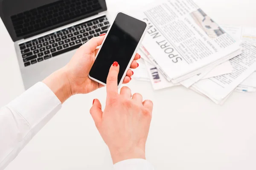
[[114,164],[114,170],[154,170],[145,159],[127,159]]

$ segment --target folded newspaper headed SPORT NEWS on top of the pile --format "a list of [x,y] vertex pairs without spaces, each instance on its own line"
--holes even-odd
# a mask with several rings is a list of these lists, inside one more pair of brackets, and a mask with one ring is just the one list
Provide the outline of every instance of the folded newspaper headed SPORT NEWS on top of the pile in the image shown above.
[[239,42],[192,0],[153,3],[140,17],[149,24],[143,46],[168,81],[176,83],[201,74],[204,67],[219,65],[240,49]]

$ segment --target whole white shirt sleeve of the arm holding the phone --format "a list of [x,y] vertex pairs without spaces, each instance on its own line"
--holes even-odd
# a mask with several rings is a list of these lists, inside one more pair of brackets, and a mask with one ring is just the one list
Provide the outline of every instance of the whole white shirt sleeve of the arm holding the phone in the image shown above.
[[60,108],[57,96],[38,82],[0,109],[0,170],[15,159]]

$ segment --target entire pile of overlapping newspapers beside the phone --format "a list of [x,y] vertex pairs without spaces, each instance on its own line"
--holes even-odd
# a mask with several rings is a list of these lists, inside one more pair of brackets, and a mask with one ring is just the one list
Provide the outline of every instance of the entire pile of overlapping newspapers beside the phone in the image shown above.
[[234,90],[255,90],[255,29],[219,26],[192,0],[153,3],[138,17],[149,27],[137,79],[155,90],[183,85],[217,104]]

